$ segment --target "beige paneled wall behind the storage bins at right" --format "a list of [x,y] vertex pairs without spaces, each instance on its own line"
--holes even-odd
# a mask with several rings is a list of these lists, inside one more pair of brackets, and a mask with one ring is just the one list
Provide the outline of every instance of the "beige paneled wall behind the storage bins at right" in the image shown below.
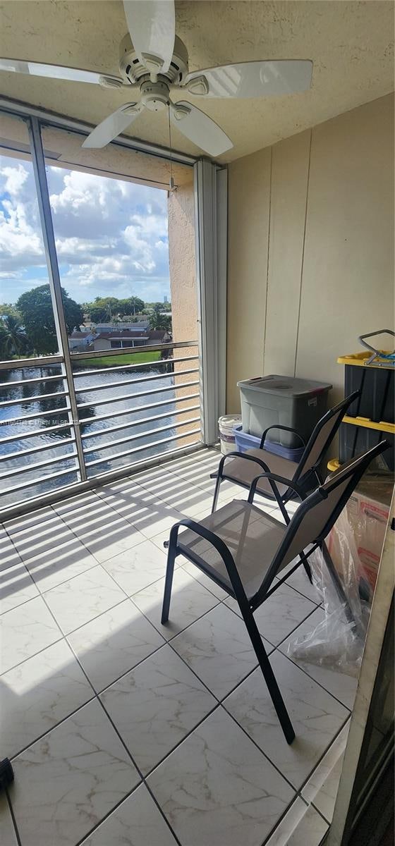
[[393,328],[393,97],[229,166],[228,412],[239,379],[343,390],[337,355]]

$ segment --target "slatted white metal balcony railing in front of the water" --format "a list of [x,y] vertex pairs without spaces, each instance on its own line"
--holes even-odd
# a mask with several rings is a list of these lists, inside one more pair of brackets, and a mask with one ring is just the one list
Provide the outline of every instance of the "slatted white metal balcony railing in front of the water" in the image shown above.
[[[125,354],[119,349],[71,354],[71,391],[61,355],[1,362],[2,511],[50,501],[70,486],[114,478],[199,444],[197,346],[134,347],[130,354],[167,350],[172,357],[131,364],[117,364]],[[81,368],[81,360],[103,355],[114,365]]]

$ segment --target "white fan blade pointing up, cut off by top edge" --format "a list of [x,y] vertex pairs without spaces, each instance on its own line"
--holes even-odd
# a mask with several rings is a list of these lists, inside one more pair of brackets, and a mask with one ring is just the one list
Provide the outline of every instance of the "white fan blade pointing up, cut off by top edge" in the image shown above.
[[124,0],[123,8],[140,62],[151,73],[166,74],[176,35],[174,0]]

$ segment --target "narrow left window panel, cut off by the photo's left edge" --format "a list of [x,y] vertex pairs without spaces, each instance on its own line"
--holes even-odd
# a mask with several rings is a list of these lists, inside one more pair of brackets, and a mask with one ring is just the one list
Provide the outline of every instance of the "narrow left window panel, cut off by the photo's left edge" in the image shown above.
[[9,362],[0,370],[0,508],[6,508],[77,481],[63,365],[30,361],[57,354],[58,341],[28,128],[6,113],[0,113],[0,253],[0,360]]

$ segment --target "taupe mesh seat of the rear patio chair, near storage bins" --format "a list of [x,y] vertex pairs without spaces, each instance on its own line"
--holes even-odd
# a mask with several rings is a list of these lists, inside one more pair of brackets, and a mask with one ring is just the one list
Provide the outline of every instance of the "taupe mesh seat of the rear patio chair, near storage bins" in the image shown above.
[[[269,453],[267,449],[248,449],[245,454],[250,455],[251,458],[261,459],[261,461],[267,464],[271,473],[285,476],[286,479],[293,479],[298,469],[298,464],[295,464],[294,461],[283,459],[281,455]],[[227,461],[222,476],[224,479],[236,482],[236,484],[250,487],[255,476],[261,472],[261,464],[255,464],[254,461],[245,461],[242,458],[234,458]],[[268,479],[260,479],[256,490],[258,493],[263,493],[266,497],[275,498]],[[288,491],[288,487],[278,483],[277,490],[283,497],[284,493]]]

